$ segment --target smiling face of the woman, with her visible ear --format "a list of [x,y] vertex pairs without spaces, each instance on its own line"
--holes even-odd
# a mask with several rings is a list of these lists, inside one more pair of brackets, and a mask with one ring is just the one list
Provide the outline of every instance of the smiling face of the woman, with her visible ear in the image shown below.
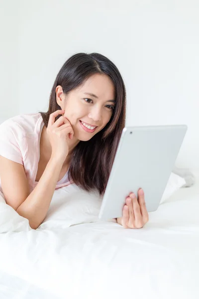
[[66,97],[61,86],[56,88],[57,103],[65,110],[74,130],[74,137],[88,141],[109,122],[114,105],[115,90],[107,75],[95,74],[72,90]]

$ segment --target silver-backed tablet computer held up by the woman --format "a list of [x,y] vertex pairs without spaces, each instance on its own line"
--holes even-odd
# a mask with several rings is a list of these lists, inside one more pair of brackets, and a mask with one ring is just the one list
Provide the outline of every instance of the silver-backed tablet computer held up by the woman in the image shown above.
[[146,209],[157,210],[187,125],[125,127],[122,130],[99,218],[122,217],[126,197],[144,190]]

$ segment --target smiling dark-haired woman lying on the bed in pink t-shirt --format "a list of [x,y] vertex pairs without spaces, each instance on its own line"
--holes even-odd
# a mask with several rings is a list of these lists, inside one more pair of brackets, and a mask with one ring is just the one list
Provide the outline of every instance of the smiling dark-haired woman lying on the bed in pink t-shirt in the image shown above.
[[[20,115],[0,126],[0,191],[29,220],[44,220],[54,190],[70,183],[105,191],[124,128],[126,93],[116,66],[98,53],[78,53],[60,69],[47,113]],[[144,193],[126,198],[125,228],[148,221]]]

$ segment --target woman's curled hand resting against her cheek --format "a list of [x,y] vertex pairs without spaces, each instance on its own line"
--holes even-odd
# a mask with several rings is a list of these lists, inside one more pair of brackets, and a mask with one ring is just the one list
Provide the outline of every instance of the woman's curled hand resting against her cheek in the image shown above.
[[57,110],[50,114],[47,134],[52,148],[51,157],[57,157],[64,162],[69,152],[69,139],[73,139],[74,131],[71,123],[64,116],[55,122],[55,118],[60,114],[64,114],[64,110]]

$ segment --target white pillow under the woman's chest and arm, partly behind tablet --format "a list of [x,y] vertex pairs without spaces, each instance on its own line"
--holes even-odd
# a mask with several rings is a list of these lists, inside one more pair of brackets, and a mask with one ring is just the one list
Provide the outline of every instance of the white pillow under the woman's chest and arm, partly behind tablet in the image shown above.
[[[184,178],[172,172],[161,203],[184,184]],[[65,229],[72,225],[101,221],[98,218],[101,201],[97,192],[86,192],[75,184],[59,188],[54,191],[47,215],[39,229]],[[108,221],[116,222],[115,219]],[[7,205],[0,193],[0,233],[28,230],[31,230],[28,220]]]

